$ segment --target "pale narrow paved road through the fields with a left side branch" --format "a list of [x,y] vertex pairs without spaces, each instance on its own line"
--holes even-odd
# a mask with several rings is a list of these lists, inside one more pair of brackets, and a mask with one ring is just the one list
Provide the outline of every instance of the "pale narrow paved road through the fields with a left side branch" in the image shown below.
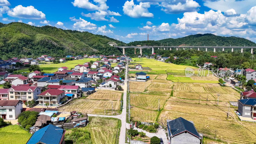
[[124,80],[124,96],[123,96],[123,111],[121,115],[116,116],[106,116],[106,115],[95,115],[95,114],[87,114],[88,116],[100,116],[100,117],[113,117],[118,118],[121,120],[122,126],[120,130],[120,136],[119,136],[119,144],[125,143],[125,129],[126,129],[126,96],[127,96],[127,81],[128,81],[128,65],[126,65],[125,69],[125,80]]

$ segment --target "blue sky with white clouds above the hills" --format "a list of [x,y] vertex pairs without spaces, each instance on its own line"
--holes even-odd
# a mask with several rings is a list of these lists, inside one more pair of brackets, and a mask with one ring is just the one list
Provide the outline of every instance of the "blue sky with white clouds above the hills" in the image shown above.
[[256,42],[256,0],[0,0],[0,21],[89,31],[123,42],[212,33]]

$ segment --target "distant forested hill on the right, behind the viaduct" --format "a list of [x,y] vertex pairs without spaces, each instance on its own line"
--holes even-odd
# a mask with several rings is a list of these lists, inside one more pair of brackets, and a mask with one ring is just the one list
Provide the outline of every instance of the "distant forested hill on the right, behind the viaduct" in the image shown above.
[[[181,38],[166,38],[159,41],[134,41],[128,45],[148,45],[148,46],[256,46],[256,44],[248,39],[241,37],[225,37],[225,36],[215,36],[213,34],[196,34],[185,36]],[[184,45],[185,44],[185,45]]]

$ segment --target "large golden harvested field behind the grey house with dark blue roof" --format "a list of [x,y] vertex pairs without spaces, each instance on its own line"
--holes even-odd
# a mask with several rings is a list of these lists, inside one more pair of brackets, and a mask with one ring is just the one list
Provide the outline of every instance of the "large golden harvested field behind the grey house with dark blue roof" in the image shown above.
[[[171,102],[170,105],[166,106],[171,108],[161,112],[158,119],[161,124],[166,124],[166,119],[175,119],[181,116],[193,121],[198,132],[204,133],[204,135],[211,138],[215,136],[215,130],[217,130],[217,139],[228,143],[255,142],[255,135],[238,124],[234,119],[229,118],[226,120],[227,114],[225,112],[228,112],[228,107],[221,107],[221,109],[225,110],[223,112],[215,106],[184,102]],[[234,108],[230,108],[231,116],[236,117],[233,111]],[[240,123],[256,133],[255,123],[241,121]]]

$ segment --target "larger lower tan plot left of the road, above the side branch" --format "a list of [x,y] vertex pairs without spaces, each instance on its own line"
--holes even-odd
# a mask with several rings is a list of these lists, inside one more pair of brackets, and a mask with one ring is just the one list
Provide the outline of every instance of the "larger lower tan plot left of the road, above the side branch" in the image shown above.
[[104,105],[106,108],[106,115],[112,115],[111,103],[113,102],[113,115],[120,110],[120,101],[116,100],[91,100],[91,99],[75,99],[68,104],[59,108],[65,111],[79,111],[82,113],[104,115]]

